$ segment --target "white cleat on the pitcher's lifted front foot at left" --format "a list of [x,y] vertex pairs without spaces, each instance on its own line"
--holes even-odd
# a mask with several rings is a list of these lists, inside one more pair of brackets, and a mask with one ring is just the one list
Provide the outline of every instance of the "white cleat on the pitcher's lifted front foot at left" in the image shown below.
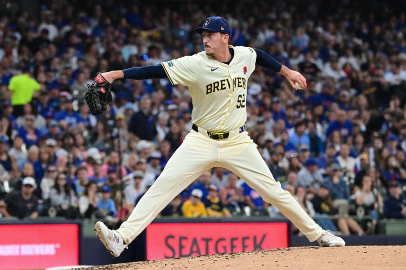
[[121,252],[128,245],[124,243],[123,238],[115,230],[109,229],[103,222],[97,221],[94,225],[94,232],[97,238],[105,245],[107,251],[114,257],[120,256]]

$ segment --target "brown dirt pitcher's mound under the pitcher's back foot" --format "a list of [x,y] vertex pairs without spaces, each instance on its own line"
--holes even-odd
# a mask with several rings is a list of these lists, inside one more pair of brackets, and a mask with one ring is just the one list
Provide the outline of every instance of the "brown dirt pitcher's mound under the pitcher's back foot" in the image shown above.
[[299,247],[164,259],[86,269],[404,269],[406,246]]

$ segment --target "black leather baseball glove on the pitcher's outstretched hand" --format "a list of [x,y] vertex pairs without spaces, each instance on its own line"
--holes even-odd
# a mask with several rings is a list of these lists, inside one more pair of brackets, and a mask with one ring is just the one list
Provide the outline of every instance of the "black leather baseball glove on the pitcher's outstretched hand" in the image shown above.
[[93,115],[103,113],[107,109],[107,104],[113,100],[111,95],[111,84],[104,78],[100,72],[94,78],[94,84],[89,85],[89,91],[86,92],[86,103]]

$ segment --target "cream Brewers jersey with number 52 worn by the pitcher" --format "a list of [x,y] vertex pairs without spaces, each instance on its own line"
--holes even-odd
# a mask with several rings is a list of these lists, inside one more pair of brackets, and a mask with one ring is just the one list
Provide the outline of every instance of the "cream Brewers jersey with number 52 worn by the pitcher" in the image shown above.
[[211,132],[227,132],[247,120],[248,78],[255,69],[256,52],[233,47],[229,64],[200,52],[162,62],[172,85],[184,85],[192,96],[192,123]]

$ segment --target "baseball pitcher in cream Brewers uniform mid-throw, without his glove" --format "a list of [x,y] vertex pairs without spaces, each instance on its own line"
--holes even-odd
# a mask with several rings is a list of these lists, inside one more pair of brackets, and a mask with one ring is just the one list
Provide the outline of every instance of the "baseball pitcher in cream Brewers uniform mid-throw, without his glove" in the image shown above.
[[[167,78],[172,85],[187,86],[192,97],[192,130],[166,164],[155,183],[119,229],[95,224],[97,237],[113,256],[119,256],[175,196],[202,173],[223,167],[254,188],[262,199],[280,209],[309,241],[321,246],[344,246],[345,242],[323,230],[281,188],[246,131],[246,96],[249,77],[259,64],[284,75],[292,88],[306,87],[306,79],[278,63],[263,51],[229,46],[231,27],[221,17],[208,18],[201,33],[205,51],[162,62],[156,66],[105,72],[115,79]],[[120,238],[120,241],[116,239]],[[121,241],[122,240],[122,241]]]

